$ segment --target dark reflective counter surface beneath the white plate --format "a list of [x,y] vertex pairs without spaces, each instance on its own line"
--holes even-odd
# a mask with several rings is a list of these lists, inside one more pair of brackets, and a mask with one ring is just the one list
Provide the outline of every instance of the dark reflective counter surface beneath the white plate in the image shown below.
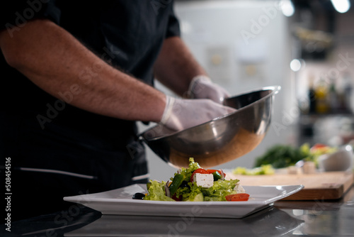
[[354,236],[354,187],[336,201],[279,201],[243,219],[101,215],[86,207],[1,225],[0,236]]

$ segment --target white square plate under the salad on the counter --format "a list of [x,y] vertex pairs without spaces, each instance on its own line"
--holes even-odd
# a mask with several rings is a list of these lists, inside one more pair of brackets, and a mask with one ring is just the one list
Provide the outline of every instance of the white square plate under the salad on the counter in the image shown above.
[[302,185],[244,186],[250,195],[246,202],[163,202],[132,199],[137,192],[146,193],[146,184],[134,184],[96,194],[64,197],[65,201],[83,204],[102,214],[133,216],[181,216],[242,218],[273,205],[304,188]]

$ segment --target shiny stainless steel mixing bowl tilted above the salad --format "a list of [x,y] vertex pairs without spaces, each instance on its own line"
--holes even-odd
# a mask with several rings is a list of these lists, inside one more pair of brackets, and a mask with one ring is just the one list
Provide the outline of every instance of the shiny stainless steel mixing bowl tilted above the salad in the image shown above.
[[272,116],[279,86],[263,87],[224,100],[237,111],[207,123],[173,132],[161,124],[140,134],[149,148],[174,167],[188,167],[194,158],[202,167],[213,167],[249,153],[261,143]]

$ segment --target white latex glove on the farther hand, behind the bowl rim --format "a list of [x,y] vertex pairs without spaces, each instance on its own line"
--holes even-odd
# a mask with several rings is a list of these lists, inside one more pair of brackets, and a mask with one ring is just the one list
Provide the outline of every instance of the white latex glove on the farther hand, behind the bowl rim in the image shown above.
[[189,86],[190,98],[192,99],[211,99],[222,104],[224,98],[229,97],[229,92],[204,75],[193,77]]

